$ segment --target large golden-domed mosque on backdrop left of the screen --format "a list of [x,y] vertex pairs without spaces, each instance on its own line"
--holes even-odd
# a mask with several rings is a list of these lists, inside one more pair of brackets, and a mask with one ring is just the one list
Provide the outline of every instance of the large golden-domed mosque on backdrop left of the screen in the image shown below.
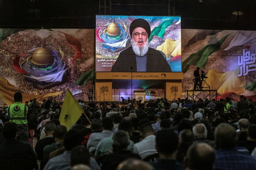
[[45,88],[62,82],[68,67],[54,50],[39,47],[22,64],[27,85]]

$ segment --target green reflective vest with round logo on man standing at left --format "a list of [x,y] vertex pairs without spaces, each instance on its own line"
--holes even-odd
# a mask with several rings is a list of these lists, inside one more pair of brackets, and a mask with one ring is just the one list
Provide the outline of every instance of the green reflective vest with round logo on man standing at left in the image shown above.
[[10,122],[16,124],[28,124],[27,114],[28,107],[20,102],[14,102],[7,108],[7,113],[10,117]]

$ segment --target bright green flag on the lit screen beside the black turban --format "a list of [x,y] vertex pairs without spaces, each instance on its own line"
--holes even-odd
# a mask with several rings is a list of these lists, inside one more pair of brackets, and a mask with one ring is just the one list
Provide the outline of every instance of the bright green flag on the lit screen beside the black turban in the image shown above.
[[165,20],[164,22],[162,22],[161,24],[159,24],[159,26],[155,27],[151,33],[150,33],[150,36],[148,38],[148,42],[150,42],[154,35],[158,36],[158,37],[161,37],[161,38],[164,38],[164,33],[165,33],[165,29],[172,25],[172,22],[173,22],[174,18],[172,19],[168,19],[168,20]]

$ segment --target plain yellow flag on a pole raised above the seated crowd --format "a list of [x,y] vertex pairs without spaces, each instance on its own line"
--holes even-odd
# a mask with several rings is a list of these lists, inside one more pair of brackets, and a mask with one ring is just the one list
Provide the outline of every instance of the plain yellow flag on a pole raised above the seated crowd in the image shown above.
[[82,113],[84,113],[82,107],[79,106],[70,90],[67,89],[61,107],[60,124],[66,126],[69,130],[78,121]]

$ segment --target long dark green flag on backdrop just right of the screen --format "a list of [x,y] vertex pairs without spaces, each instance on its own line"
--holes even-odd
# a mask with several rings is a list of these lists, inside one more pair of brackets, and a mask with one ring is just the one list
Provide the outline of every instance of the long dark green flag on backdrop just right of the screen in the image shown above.
[[229,35],[230,34],[224,36],[220,41],[216,42],[215,44],[206,45],[196,53],[191,54],[186,60],[182,62],[182,72],[187,72],[189,66],[191,65],[195,65],[197,67],[205,69],[205,65],[208,61],[209,55],[217,51],[220,48],[220,45]]

